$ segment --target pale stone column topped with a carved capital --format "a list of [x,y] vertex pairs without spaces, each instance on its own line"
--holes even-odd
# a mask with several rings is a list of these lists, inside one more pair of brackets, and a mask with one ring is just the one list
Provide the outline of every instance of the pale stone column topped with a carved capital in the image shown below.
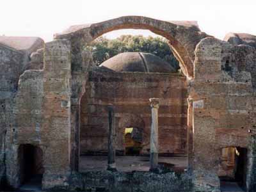
[[158,108],[159,99],[150,98],[152,122],[150,130],[150,171],[158,167]]

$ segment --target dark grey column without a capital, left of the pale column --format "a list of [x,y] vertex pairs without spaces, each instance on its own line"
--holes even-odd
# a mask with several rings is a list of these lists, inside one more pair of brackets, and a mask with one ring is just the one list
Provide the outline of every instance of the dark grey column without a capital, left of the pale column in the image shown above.
[[113,106],[108,106],[108,170],[116,171],[115,121]]

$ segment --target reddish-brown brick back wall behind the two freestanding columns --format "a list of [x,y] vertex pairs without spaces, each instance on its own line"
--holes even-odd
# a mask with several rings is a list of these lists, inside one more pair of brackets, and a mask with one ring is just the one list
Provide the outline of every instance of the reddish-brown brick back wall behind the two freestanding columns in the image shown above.
[[184,154],[187,129],[186,77],[139,72],[90,72],[81,99],[81,154],[107,152],[108,104],[115,109],[116,150],[124,152],[125,127],[143,129],[142,154],[148,154],[149,98],[160,99],[159,152]]

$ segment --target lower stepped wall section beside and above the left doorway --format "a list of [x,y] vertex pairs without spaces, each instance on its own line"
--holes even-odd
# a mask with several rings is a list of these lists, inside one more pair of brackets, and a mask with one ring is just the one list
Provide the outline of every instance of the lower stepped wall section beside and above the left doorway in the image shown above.
[[13,104],[13,123],[6,134],[6,176],[15,188],[20,185],[19,145],[40,143],[42,86],[42,70],[27,70],[20,76],[19,91]]

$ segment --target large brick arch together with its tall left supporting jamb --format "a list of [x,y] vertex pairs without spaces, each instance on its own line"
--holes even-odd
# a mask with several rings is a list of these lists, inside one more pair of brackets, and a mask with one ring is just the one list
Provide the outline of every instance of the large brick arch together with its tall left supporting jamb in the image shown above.
[[193,63],[195,47],[203,38],[195,22],[166,22],[140,16],[126,16],[106,20],[96,24],[71,26],[63,33],[54,35],[55,39],[65,39],[71,45],[71,116],[70,116],[70,166],[77,171],[79,166],[80,100],[88,79],[88,68],[93,66],[92,52],[84,51],[84,45],[109,31],[118,29],[148,29],[164,36],[172,46],[173,54],[180,62],[180,68],[188,79],[194,77]]

